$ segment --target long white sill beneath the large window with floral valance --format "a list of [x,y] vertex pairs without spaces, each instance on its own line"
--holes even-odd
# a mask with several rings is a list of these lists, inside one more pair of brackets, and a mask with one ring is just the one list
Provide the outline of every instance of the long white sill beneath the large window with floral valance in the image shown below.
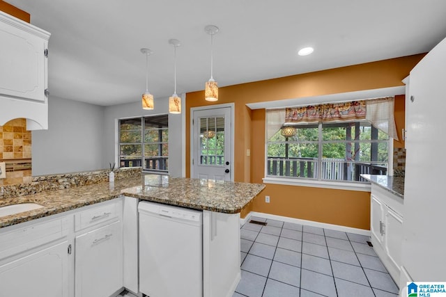
[[370,184],[356,182],[330,182],[315,179],[291,179],[285,177],[264,177],[264,184],[284,184],[288,186],[311,186],[314,188],[333,188],[337,190],[370,192]]

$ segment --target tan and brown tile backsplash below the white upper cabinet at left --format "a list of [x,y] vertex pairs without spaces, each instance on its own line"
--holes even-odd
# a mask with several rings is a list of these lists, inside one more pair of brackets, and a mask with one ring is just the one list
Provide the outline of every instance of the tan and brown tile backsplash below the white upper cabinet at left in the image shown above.
[[0,179],[0,185],[31,182],[31,131],[26,130],[26,119],[0,126],[0,162],[6,163],[6,179]]

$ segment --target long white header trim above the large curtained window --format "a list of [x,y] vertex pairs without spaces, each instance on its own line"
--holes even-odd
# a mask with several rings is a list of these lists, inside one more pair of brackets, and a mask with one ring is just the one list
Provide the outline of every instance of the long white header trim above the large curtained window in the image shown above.
[[249,107],[249,109],[281,109],[285,107],[346,102],[359,99],[361,100],[373,99],[378,97],[388,97],[388,96],[403,95],[403,94],[406,94],[406,86],[378,88],[373,90],[360,90],[355,92],[282,99],[282,100],[274,100],[267,102],[248,103],[246,105]]

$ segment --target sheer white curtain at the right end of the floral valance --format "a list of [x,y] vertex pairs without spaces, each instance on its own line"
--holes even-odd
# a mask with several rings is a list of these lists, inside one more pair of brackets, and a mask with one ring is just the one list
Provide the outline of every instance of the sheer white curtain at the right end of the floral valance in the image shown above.
[[398,140],[397,127],[394,119],[394,97],[366,100],[366,120],[371,125]]

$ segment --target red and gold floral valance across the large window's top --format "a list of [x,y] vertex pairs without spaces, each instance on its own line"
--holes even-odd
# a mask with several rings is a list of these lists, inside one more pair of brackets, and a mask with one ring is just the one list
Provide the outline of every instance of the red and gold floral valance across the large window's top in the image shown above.
[[285,109],[285,122],[364,120],[366,109],[364,100],[292,107]]

